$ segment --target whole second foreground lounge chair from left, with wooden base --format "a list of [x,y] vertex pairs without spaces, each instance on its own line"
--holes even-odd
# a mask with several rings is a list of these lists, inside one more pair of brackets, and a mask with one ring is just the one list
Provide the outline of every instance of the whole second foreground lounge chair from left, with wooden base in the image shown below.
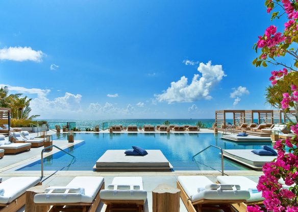
[[47,187],[44,193],[34,196],[34,202],[37,205],[52,205],[49,211],[53,212],[94,212],[101,201],[100,191],[104,187],[103,177],[74,177],[66,186]]

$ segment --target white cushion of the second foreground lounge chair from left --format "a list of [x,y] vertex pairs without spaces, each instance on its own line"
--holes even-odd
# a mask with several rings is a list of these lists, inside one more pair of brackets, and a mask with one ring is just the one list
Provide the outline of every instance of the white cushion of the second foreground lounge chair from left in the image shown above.
[[34,196],[35,203],[92,203],[98,191],[100,191],[104,183],[103,177],[75,177],[66,187],[84,188],[85,194],[71,193],[64,195],[63,193],[52,194],[36,194]]

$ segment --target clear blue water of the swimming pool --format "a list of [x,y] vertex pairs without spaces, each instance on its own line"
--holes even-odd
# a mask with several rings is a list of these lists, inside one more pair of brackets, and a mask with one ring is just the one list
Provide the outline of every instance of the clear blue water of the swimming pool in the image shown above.
[[[220,133],[75,133],[74,139],[84,140],[79,144],[66,148],[76,158],[72,158],[60,151],[44,158],[44,170],[92,170],[96,160],[106,150],[132,149],[139,146],[144,149],[160,149],[172,164],[174,170],[221,170],[219,150],[209,148],[192,156],[209,145],[222,149],[258,149],[270,143],[234,143],[221,140]],[[66,139],[61,138],[61,139]],[[249,170],[229,159],[224,160],[225,170]],[[18,170],[40,170],[40,160],[37,160]]]

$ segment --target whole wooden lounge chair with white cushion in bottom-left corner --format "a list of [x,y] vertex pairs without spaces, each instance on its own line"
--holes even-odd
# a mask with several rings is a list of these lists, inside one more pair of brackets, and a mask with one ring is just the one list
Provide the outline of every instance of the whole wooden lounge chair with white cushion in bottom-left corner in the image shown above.
[[12,177],[0,183],[0,212],[16,212],[26,200],[26,190],[41,185],[39,177]]

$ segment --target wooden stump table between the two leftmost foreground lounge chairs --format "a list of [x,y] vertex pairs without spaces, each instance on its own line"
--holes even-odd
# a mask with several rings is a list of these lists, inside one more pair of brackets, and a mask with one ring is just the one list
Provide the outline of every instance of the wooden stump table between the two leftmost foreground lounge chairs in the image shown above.
[[26,191],[26,206],[25,211],[30,212],[47,212],[51,205],[36,205],[34,203],[34,195],[44,193],[44,190],[48,186],[46,185],[37,185],[34,187],[31,187]]

